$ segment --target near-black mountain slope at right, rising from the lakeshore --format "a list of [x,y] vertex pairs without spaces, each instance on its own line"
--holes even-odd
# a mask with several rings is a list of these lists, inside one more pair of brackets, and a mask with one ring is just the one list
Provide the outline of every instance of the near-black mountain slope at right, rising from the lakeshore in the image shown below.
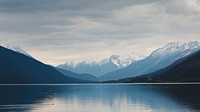
[[164,83],[164,82],[199,82],[200,51],[175,61],[170,66],[156,72],[120,79],[123,83]]

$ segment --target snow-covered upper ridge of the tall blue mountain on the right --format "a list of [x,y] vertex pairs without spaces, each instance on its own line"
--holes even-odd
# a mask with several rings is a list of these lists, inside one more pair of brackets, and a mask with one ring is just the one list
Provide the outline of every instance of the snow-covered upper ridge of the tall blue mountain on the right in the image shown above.
[[159,57],[159,56],[170,55],[173,53],[183,52],[185,50],[198,50],[198,49],[200,49],[200,43],[197,41],[190,41],[188,43],[172,42],[168,43],[162,48],[155,50],[154,52],[152,52],[151,56]]

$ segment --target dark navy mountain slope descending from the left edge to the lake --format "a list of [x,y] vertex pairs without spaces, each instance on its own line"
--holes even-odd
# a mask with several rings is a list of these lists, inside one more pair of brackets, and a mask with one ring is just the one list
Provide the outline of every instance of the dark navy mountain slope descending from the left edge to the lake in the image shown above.
[[69,82],[83,81],[66,77],[48,65],[0,46],[1,84]]

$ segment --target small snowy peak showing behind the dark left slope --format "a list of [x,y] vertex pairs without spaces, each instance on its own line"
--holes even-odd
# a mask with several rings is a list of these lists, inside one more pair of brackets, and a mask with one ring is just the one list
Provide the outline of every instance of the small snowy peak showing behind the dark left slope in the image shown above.
[[9,44],[6,44],[6,45],[2,44],[1,46],[5,47],[5,48],[7,48],[7,49],[13,50],[13,51],[15,51],[15,52],[24,54],[24,55],[26,55],[26,56],[28,56],[28,57],[33,58],[30,54],[28,54],[26,51],[24,51],[23,49],[21,49],[19,46],[11,46],[11,45],[9,45]]

